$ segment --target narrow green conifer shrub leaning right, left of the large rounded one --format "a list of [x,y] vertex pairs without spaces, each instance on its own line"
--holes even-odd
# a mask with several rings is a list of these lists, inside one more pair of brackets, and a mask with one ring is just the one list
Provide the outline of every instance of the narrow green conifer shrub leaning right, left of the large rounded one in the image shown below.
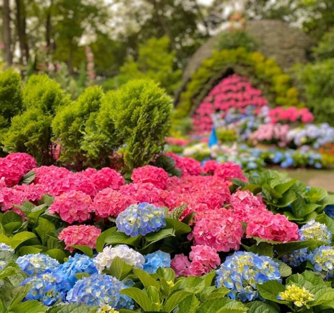
[[67,164],[85,162],[81,149],[86,121],[96,117],[104,96],[101,87],[88,87],[78,100],[61,107],[52,121],[54,141],[61,147],[60,161]]

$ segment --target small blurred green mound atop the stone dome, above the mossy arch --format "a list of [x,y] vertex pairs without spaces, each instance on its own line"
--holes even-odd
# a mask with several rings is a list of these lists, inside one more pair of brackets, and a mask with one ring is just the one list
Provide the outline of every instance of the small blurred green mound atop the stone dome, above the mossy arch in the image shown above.
[[248,51],[254,51],[257,47],[255,39],[245,30],[233,29],[232,31],[224,31],[219,35],[217,48],[236,49],[244,47]]

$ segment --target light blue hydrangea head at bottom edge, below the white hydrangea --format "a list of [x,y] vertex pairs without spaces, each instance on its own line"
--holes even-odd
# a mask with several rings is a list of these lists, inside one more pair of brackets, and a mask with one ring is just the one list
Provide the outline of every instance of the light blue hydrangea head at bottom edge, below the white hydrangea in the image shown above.
[[78,280],[68,291],[66,300],[91,306],[109,305],[116,309],[132,309],[134,307],[132,299],[120,293],[124,288],[126,288],[124,284],[115,277],[94,274]]

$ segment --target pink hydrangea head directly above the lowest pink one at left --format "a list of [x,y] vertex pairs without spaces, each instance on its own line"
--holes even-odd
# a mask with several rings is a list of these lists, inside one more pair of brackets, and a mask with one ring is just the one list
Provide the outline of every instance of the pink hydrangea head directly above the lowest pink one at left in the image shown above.
[[50,213],[58,213],[62,220],[72,224],[85,222],[93,211],[91,198],[82,191],[71,190],[57,196],[50,206]]

